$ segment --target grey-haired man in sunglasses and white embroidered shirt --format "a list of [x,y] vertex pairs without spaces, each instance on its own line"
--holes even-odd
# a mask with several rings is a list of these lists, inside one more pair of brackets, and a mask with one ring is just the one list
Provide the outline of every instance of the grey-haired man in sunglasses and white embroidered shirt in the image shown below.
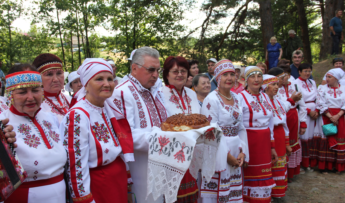
[[[113,95],[114,104],[120,106],[132,131],[135,162],[128,163],[134,183],[132,192],[140,203],[151,203],[154,202],[151,194],[145,200],[149,136],[152,127],[160,127],[168,117],[164,96],[155,84],[162,71],[158,51],[150,47],[137,49],[132,57],[131,69],[128,80],[116,87],[121,90],[122,98]],[[162,202],[162,196],[156,202]]]

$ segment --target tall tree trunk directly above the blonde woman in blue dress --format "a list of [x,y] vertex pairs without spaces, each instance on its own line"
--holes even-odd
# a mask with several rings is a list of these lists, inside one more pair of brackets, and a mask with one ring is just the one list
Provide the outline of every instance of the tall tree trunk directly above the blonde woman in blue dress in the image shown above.
[[266,56],[267,44],[270,43],[271,37],[274,36],[271,1],[260,0],[259,1],[259,13],[262,30],[262,38],[264,43],[264,58]]

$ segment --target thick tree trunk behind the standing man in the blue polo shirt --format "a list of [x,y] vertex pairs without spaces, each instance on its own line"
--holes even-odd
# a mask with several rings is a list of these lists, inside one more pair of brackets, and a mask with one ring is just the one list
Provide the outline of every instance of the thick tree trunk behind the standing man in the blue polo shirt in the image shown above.
[[[321,1],[320,1],[321,2]],[[324,15],[322,18],[322,41],[320,46],[319,60],[325,59],[332,52],[331,30],[329,22],[335,16],[337,9],[344,8],[344,0],[325,0]]]

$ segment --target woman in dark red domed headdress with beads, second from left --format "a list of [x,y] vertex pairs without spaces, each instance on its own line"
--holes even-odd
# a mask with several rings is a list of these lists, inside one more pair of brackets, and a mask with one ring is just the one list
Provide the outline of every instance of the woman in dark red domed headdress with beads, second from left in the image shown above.
[[62,61],[53,54],[40,54],[32,62],[42,76],[45,101],[42,110],[57,115],[59,122],[69,109],[70,97],[61,93],[65,76],[63,75]]

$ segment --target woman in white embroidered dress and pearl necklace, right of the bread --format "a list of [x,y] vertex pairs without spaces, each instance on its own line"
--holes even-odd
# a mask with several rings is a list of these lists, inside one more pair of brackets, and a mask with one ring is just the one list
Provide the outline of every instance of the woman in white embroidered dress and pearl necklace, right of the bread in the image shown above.
[[204,99],[201,114],[223,130],[229,148],[228,165],[225,171],[213,175],[211,184],[199,181],[201,202],[242,203],[242,166],[248,163],[249,153],[241,103],[238,95],[230,91],[236,82],[235,69],[230,60],[222,59],[215,65],[214,72],[218,87]]

